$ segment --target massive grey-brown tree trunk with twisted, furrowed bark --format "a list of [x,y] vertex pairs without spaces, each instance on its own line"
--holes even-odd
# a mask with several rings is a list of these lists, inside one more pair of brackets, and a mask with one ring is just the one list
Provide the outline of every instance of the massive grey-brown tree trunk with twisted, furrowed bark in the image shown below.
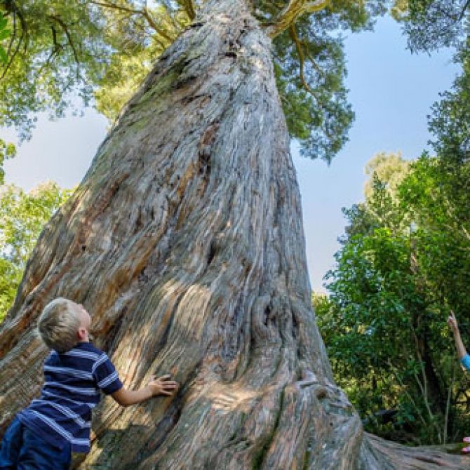
[[466,468],[363,434],[304,250],[269,39],[242,0],[208,1],[39,239],[1,327],[1,423],[39,392],[34,323],[60,295],[93,314],[126,387],[181,384],[173,400],[107,398],[80,468]]

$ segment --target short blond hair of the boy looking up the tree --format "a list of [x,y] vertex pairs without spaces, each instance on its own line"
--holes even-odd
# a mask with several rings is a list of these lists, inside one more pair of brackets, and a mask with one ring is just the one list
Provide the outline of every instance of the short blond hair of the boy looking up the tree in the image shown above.
[[65,353],[79,342],[76,335],[79,325],[79,314],[73,302],[58,297],[49,302],[39,316],[39,336],[49,348]]

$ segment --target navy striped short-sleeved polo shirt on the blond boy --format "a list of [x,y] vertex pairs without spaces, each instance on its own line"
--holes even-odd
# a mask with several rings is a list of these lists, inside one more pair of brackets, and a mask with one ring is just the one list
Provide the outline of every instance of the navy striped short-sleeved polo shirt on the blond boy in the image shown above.
[[69,442],[73,452],[89,452],[91,410],[101,394],[123,384],[108,356],[88,342],[64,354],[51,351],[44,363],[41,396],[18,414],[26,427],[58,448]]

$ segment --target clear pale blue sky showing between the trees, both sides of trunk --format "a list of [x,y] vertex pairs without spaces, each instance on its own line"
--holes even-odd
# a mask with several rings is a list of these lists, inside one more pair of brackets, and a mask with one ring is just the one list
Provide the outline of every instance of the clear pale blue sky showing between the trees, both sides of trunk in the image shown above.
[[[374,32],[350,34],[346,40],[347,88],[356,112],[349,142],[333,163],[293,158],[302,195],[307,262],[311,286],[323,291],[322,278],[333,267],[344,231],[341,208],[363,199],[365,163],[377,152],[401,151],[414,159],[427,148],[427,114],[438,93],[447,90],[458,72],[451,51],[411,55],[405,38],[390,18],[377,22]],[[73,187],[85,175],[107,121],[93,109],[83,117],[48,121],[40,116],[32,140],[18,147],[7,161],[6,182],[31,189],[46,180]],[[13,130],[1,137],[16,141]]]

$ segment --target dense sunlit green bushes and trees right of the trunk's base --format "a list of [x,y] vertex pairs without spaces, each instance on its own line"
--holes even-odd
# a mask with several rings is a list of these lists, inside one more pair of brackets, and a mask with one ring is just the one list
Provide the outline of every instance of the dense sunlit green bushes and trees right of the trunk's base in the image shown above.
[[[387,170],[385,181],[372,173],[365,203],[344,210],[349,227],[326,276],[330,297],[314,300],[318,325],[367,429],[443,443],[470,424],[445,323],[454,309],[468,342],[470,165],[450,173],[442,158],[408,165],[382,154],[369,168]],[[396,410],[393,423],[373,418],[384,409]]]

